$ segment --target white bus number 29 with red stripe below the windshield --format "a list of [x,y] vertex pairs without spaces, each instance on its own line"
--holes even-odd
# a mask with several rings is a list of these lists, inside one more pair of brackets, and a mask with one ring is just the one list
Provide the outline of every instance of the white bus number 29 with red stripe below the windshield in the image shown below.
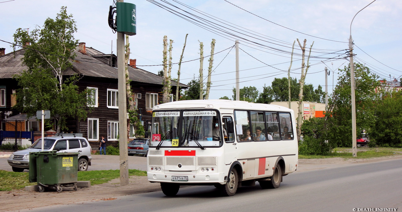
[[[182,185],[278,188],[297,168],[293,111],[245,101],[187,100],[156,105],[150,125],[148,181],[167,196]],[[148,123],[146,124],[148,131]]]

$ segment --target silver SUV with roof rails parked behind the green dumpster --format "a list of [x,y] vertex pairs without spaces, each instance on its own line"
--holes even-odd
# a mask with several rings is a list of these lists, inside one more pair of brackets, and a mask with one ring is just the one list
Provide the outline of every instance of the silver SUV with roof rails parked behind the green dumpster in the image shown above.
[[[43,151],[78,152],[78,171],[88,170],[91,166],[91,147],[84,137],[51,136],[43,139]],[[29,169],[29,153],[42,151],[42,139],[37,139],[28,149],[16,151],[8,157],[7,162],[14,172]]]

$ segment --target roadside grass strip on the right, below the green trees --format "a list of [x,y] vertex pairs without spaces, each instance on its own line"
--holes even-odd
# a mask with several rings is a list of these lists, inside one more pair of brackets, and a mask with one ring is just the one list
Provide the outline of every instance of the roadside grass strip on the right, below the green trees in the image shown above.
[[351,148],[335,148],[329,155],[299,155],[302,159],[312,159],[312,158],[331,158],[331,157],[342,157],[342,158],[371,158],[371,157],[386,157],[393,155],[402,155],[401,148],[392,147],[376,147],[376,148],[365,148],[366,151],[357,151],[357,157],[352,156]]

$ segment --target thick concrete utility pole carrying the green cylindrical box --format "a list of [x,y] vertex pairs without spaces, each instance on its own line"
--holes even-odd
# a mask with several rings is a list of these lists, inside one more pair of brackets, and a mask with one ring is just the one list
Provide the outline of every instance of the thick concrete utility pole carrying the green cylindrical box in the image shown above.
[[[124,2],[117,0],[117,2]],[[124,33],[117,32],[117,79],[119,89],[119,146],[120,146],[120,186],[128,185],[128,152],[127,152],[127,101],[125,78]]]

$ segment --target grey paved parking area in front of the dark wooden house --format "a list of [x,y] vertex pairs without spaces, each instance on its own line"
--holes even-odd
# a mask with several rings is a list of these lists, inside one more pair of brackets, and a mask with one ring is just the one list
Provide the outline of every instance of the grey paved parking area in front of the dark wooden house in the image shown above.
[[[90,170],[117,170],[120,169],[119,155],[92,155]],[[142,156],[128,156],[128,168],[146,171],[147,158]],[[0,157],[0,170],[12,172],[11,166],[7,163],[7,157]],[[28,172],[28,170],[24,170]]]

